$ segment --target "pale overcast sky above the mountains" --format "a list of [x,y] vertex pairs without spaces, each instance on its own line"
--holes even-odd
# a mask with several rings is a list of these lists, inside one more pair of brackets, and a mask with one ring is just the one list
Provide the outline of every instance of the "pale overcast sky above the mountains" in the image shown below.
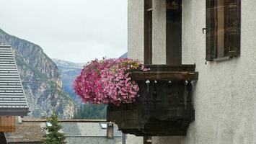
[[127,0],[0,0],[0,28],[50,58],[117,58],[127,51]]

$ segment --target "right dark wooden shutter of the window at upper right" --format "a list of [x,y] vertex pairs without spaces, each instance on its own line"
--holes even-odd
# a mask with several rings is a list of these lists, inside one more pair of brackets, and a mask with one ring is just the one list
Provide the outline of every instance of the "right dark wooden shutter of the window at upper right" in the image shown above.
[[225,55],[240,54],[241,0],[226,0],[225,4]]

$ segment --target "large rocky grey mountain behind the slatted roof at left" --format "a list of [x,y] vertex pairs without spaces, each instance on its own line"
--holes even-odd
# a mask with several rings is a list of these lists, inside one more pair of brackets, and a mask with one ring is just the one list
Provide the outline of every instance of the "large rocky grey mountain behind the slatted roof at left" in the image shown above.
[[30,117],[48,117],[53,111],[61,118],[73,117],[76,104],[63,91],[56,63],[39,45],[9,35],[1,29],[0,45],[12,45],[30,106]]

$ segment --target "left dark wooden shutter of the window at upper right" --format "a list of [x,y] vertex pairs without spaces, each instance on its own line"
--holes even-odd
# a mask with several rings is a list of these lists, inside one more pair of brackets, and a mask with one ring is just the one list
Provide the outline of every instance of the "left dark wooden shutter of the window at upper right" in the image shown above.
[[216,1],[206,0],[206,60],[216,58]]

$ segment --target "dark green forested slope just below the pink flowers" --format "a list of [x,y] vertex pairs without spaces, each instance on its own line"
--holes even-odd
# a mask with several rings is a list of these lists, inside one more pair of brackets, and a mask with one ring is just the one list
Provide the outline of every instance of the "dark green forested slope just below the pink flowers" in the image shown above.
[[77,109],[74,119],[106,119],[107,106],[105,104],[84,104]]

